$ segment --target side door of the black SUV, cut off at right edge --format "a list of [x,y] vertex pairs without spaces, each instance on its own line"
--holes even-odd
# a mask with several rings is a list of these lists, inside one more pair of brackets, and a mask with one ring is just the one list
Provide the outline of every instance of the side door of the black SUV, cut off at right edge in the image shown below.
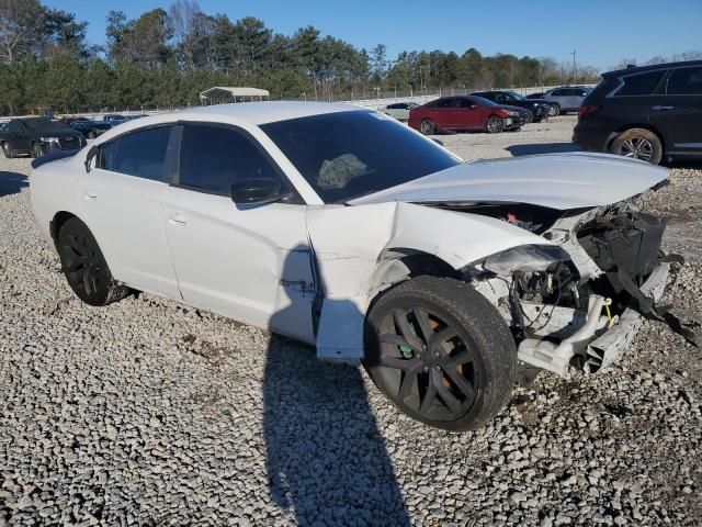
[[650,106],[650,119],[666,139],[666,152],[702,152],[702,66],[672,69],[665,94]]

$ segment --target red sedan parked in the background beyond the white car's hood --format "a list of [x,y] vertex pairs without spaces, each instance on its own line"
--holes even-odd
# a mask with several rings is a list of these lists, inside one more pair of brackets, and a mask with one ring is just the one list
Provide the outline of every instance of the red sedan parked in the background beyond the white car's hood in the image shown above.
[[409,125],[424,135],[440,130],[484,130],[496,134],[523,124],[521,109],[482,97],[442,97],[409,111]]

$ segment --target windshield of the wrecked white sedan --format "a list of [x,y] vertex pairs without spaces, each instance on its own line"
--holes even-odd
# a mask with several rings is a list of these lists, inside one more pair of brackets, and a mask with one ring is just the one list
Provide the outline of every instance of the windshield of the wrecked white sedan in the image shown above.
[[261,130],[325,203],[343,203],[461,164],[378,112],[326,113]]

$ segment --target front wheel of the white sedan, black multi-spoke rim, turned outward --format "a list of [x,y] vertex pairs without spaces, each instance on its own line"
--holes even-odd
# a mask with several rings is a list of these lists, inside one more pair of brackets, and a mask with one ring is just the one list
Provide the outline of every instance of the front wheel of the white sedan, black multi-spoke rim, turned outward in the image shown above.
[[364,367],[409,417],[471,430],[508,401],[517,349],[498,311],[471,285],[417,277],[384,293],[371,309]]

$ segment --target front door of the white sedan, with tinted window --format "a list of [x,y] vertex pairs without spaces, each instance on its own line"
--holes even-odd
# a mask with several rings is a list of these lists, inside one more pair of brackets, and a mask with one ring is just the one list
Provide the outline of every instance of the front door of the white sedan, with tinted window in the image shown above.
[[[306,205],[246,131],[184,123],[163,221],[183,300],[312,343],[315,279]],[[240,205],[233,183],[267,178],[288,197]]]

